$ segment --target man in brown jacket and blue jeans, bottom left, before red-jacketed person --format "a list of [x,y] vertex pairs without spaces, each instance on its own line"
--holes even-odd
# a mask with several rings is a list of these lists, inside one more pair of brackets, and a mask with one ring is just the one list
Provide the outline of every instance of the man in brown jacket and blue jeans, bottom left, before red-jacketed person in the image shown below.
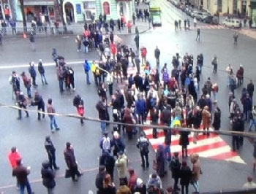
[[25,167],[21,164],[21,159],[16,160],[17,166],[12,170],[12,176],[16,176],[17,182],[20,185],[20,194],[24,194],[24,190],[26,190],[29,194],[34,194],[31,191],[31,187],[29,184],[28,175],[30,174],[30,167]]

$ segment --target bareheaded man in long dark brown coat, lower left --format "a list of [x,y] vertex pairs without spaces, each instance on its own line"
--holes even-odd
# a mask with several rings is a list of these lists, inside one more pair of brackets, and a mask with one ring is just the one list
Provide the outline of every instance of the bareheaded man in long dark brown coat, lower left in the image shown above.
[[75,160],[75,153],[72,145],[67,142],[66,149],[64,150],[64,158],[67,164],[67,168],[69,168],[71,178],[73,182],[77,182],[78,179],[75,179],[75,175],[80,177],[82,174],[78,171],[78,163]]

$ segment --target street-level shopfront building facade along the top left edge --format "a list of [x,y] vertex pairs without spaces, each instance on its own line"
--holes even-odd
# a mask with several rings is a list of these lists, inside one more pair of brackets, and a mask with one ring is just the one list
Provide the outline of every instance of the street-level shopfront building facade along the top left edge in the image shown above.
[[[69,23],[98,19],[100,14],[107,15],[107,19],[117,20],[124,16],[132,20],[135,12],[135,0],[24,0],[26,20],[43,18],[50,23],[60,22],[61,3],[64,20]],[[19,0],[0,0],[0,20],[5,18],[22,20]]]

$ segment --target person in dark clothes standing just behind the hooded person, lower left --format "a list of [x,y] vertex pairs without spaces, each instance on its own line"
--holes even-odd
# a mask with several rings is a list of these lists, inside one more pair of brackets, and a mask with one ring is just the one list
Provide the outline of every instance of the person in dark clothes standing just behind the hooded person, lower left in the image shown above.
[[45,150],[48,154],[49,167],[54,168],[54,170],[59,170],[59,166],[56,165],[55,147],[53,141],[51,141],[50,136],[45,137]]

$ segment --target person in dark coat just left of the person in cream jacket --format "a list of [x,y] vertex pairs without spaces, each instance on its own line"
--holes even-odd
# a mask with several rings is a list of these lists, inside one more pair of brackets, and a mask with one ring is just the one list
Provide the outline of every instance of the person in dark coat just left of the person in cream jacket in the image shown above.
[[115,167],[115,158],[111,155],[110,152],[103,152],[102,156],[99,158],[99,166],[105,166],[106,171],[110,174],[111,179],[113,180],[113,172]]

